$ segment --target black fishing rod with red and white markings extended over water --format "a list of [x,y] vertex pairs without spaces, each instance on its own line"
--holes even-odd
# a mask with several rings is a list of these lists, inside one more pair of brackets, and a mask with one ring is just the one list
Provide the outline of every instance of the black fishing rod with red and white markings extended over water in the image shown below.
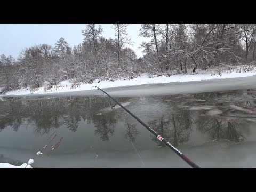
[[[105,91],[103,91],[102,89],[100,89],[97,86],[92,86],[92,87],[96,87],[97,89],[99,89],[100,91],[102,91],[102,95],[104,95],[104,93],[106,95],[108,95],[108,97],[110,99],[112,99],[113,101],[116,102],[116,104],[118,104],[120,107],[122,107],[124,110],[127,111],[127,113],[129,113],[131,116],[133,116],[138,122],[140,122],[140,124],[142,124],[143,126],[146,127],[146,129],[148,131],[150,131],[152,134],[155,135],[155,137],[157,137],[157,139],[161,142],[163,142],[167,147],[169,147],[170,149],[172,149],[174,151],[175,154],[179,155],[179,157],[181,157],[187,164],[189,164],[191,167],[193,168],[200,168],[198,165],[196,165],[193,161],[191,161],[187,156],[185,156],[184,154],[182,154],[177,148],[175,148],[170,142],[165,141],[165,139],[159,135],[157,132],[155,132],[153,129],[151,129],[148,125],[146,125],[145,123],[143,123],[138,117],[136,117],[135,115],[133,115],[131,113],[131,111],[129,111],[128,109],[126,109],[124,106],[122,106],[119,102],[117,102],[114,98],[112,98],[108,93],[106,93]],[[112,109],[116,108],[116,104],[114,106],[112,106]]]

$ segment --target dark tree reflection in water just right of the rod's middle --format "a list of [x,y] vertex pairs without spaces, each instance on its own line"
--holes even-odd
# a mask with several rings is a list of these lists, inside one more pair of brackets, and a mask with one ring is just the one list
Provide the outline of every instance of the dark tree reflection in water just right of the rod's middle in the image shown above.
[[[173,114],[168,119],[161,118],[149,122],[149,126],[153,130],[162,135],[165,140],[173,143],[173,145],[179,145],[188,141],[191,125],[192,118],[188,110]],[[158,146],[164,146],[156,137],[153,137],[152,140],[157,142]]]

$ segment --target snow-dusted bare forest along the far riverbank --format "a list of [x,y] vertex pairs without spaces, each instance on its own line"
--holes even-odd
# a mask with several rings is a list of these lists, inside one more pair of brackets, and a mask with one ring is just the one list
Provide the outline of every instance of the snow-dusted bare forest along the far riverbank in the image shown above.
[[28,87],[49,89],[61,81],[92,83],[149,76],[196,73],[198,69],[230,68],[255,62],[255,24],[142,24],[143,57],[132,44],[127,24],[114,24],[115,38],[102,36],[100,25],[85,25],[84,39],[70,47],[64,38],[54,46],[25,47],[19,57],[0,56],[0,87],[4,93]]

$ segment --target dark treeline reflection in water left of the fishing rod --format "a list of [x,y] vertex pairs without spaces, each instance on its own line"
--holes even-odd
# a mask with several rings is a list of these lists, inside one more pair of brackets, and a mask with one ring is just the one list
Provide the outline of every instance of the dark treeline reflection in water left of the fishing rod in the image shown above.
[[[127,98],[116,100],[123,102]],[[97,120],[94,121],[98,118],[94,114],[99,109],[110,107],[112,104],[107,97],[33,98],[31,100],[11,98],[0,102],[0,131],[7,126],[18,131],[22,123],[35,127],[35,132],[39,134],[48,133],[62,124],[66,125],[69,130],[76,131],[82,119],[87,120],[87,123],[98,123],[97,126],[100,127],[100,123]],[[107,122],[113,122],[112,117],[107,118]]]

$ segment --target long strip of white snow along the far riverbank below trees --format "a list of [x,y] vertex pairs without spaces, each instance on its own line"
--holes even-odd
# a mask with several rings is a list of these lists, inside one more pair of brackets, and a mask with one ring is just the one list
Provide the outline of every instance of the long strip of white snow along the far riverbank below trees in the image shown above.
[[[204,73],[204,74],[193,74],[193,75],[173,75],[170,77],[167,76],[159,76],[159,77],[151,77],[149,78],[147,74],[143,74],[137,78],[123,80],[119,79],[116,81],[100,81],[97,79],[92,84],[83,84],[80,83],[78,87],[72,87],[73,83],[66,80],[62,81],[59,85],[52,87],[49,90],[45,90],[45,87],[40,87],[36,91],[30,92],[28,88],[19,89],[15,91],[7,92],[4,95],[36,95],[36,94],[45,94],[45,93],[60,93],[60,92],[72,92],[72,91],[84,91],[97,89],[92,86],[98,86],[101,89],[118,87],[118,86],[132,86],[132,85],[143,85],[143,84],[156,84],[156,83],[172,83],[172,82],[191,82],[191,81],[202,81],[202,80],[212,80],[212,79],[225,79],[225,78],[235,78],[235,77],[250,77],[256,75],[256,70],[251,70],[249,72],[231,72],[228,73],[219,73],[212,75],[212,73]],[[98,83],[99,82],[99,83]],[[73,89],[74,88],[74,89]],[[1,97],[0,97],[1,98]]]

